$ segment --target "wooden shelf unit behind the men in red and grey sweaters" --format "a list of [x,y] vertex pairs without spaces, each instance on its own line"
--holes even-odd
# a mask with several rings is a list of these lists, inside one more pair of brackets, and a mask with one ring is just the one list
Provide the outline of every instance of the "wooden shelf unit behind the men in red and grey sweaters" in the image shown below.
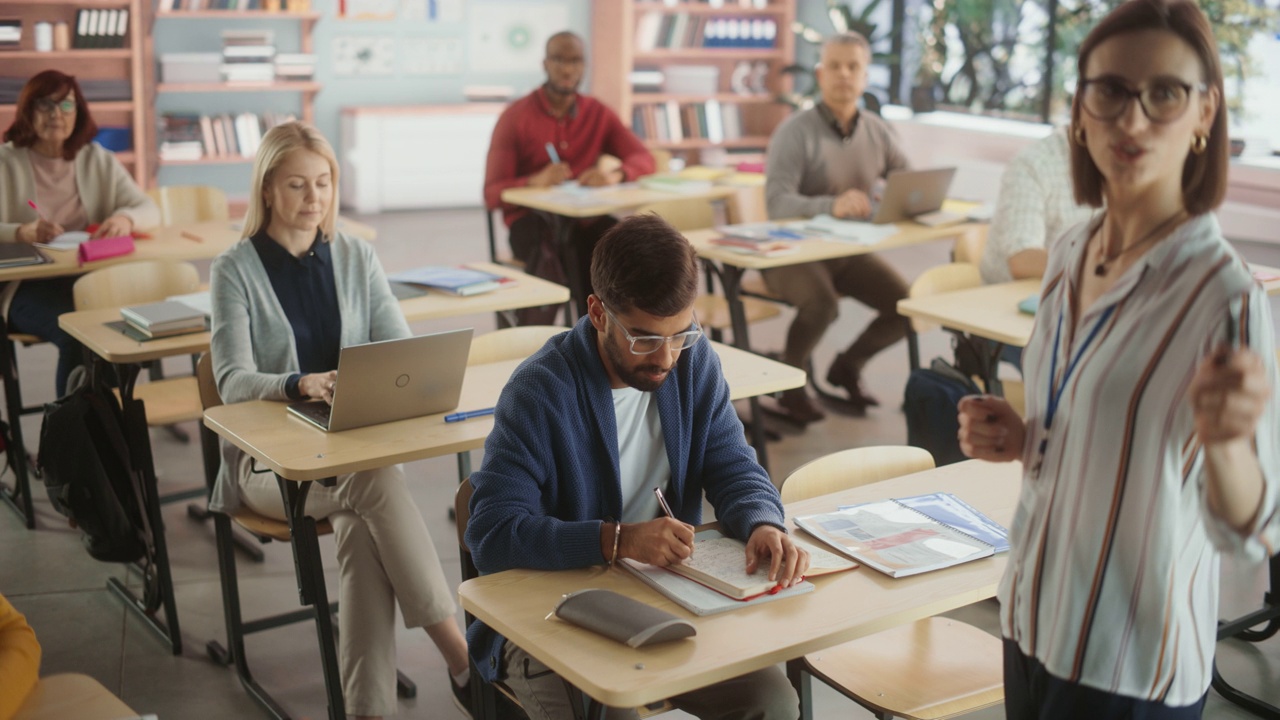
[[[640,19],[649,13],[662,15],[687,14],[699,19],[750,18],[769,19],[777,24],[773,47],[658,47],[639,50],[636,28]],[[791,109],[774,99],[790,91],[791,78],[782,68],[794,61],[795,35],[791,24],[795,20],[795,0],[769,0],[764,8],[741,8],[732,0],[723,6],[713,8],[704,3],[657,3],[653,0],[612,0],[593,6],[591,46],[591,92],[613,108],[622,122],[632,124],[632,111],[637,106],[676,102],[680,106],[703,104],[714,100],[721,105],[736,105],[741,117],[741,137],[712,142],[705,138],[685,138],[681,141],[646,138],[652,149],[669,150],[685,156],[686,161],[699,161],[703,150],[713,147],[760,149],[768,145],[773,128],[778,126]],[[603,50],[608,49],[608,50]],[[765,63],[768,76],[764,92],[736,94],[731,88],[731,77],[740,61]],[[636,92],[631,87],[628,74],[635,69],[657,68],[666,73],[673,65],[710,65],[719,70],[717,91],[713,94],[676,92]]]

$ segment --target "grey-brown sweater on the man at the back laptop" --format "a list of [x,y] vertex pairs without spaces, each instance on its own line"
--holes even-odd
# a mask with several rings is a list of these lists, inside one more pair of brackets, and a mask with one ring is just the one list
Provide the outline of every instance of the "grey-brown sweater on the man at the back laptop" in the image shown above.
[[870,193],[877,179],[908,167],[897,136],[882,118],[859,110],[846,143],[817,108],[787,118],[769,138],[764,193],[769,218],[812,218],[831,213],[846,190]]

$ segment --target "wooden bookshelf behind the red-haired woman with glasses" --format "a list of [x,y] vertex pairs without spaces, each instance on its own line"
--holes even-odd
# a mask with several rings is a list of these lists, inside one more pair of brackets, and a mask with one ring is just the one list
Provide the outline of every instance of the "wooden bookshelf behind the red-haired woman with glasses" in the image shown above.
[[[77,13],[79,10],[127,10],[128,26],[123,47],[77,49]],[[115,158],[133,179],[147,187],[152,165],[145,151],[151,146],[151,99],[147,72],[151,67],[150,3],[142,0],[0,0],[0,19],[22,22],[22,41],[15,50],[0,50],[0,76],[26,81],[41,70],[58,69],[74,76],[88,99],[88,109],[100,128],[128,128],[132,147]],[[73,47],[36,50],[36,23],[67,23]],[[93,85],[113,81],[119,92],[99,100]],[[0,101],[0,131],[8,128],[17,113],[15,99]],[[142,150],[142,151],[140,151]]]

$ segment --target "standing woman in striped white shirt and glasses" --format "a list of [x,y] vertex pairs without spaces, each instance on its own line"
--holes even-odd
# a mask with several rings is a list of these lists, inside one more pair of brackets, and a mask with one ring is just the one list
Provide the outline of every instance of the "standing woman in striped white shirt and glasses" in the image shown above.
[[1021,460],[1000,585],[1010,719],[1196,719],[1219,553],[1280,541],[1266,295],[1222,240],[1222,70],[1192,0],[1129,0],[1079,53],[1075,197],[1050,249],[1027,420],[960,404],[970,457]]

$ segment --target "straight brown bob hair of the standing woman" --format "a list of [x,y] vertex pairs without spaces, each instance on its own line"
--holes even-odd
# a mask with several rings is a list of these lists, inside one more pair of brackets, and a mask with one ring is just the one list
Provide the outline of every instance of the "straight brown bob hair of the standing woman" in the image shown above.
[[[1226,96],[1222,87],[1222,64],[1217,58],[1217,44],[1208,18],[1193,0],[1128,0],[1102,19],[1080,44],[1078,77],[1085,78],[1089,55],[1105,40],[1117,35],[1161,29],[1171,32],[1196,50],[1199,56],[1203,81],[1217,88],[1217,114],[1208,132],[1208,146],[1203,154],[1192,154],[1183,165],[1183,206],[1192,215],[1201,215],[1222,204],[1226,195],[1226,161],[1229,140],[1226,132]],[[1080,127],[1082,92],[1071,101],[1071,127]],[[1071,137],[1075,137],[1073,129]],[[1190,152],[1190,147],[1188,147]],[[1102,206],[1103,178],[1089,156],[1088,147],[1071,142],[1071,184],[1075,201],[1093,208]]]

